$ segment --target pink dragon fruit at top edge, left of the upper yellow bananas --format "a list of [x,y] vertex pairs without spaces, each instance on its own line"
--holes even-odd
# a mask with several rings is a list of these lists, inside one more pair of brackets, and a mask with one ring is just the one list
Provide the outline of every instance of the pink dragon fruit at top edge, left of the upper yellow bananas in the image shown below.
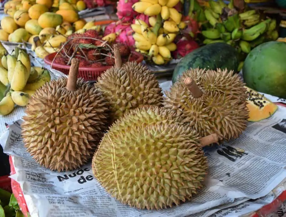
[[132,5],[139,0],[119,0],[117,3],[117,17],[124,22],[131,22],[138,13],[132,9]]

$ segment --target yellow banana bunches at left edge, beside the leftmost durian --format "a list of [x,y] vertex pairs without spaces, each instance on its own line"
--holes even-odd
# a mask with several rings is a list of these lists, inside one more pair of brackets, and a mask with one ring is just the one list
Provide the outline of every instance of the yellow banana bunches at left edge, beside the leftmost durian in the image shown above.
[[18,47],[13,53],[2,56],[1,65],[1,115],[11,113],[15,105],[27,105],[33,93],[51,79],[48,70],[31,67],[26,50]]

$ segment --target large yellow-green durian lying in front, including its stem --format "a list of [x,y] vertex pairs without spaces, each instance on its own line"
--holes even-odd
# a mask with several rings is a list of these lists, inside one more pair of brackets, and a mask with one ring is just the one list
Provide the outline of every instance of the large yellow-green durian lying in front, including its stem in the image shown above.
[[203,187],[208,166],[201,147],[218,138],[200,139],[178,121],[176,113],[151,106],[113,123],[92,159],[94,176],[112,197],[153,210],[189,200]]

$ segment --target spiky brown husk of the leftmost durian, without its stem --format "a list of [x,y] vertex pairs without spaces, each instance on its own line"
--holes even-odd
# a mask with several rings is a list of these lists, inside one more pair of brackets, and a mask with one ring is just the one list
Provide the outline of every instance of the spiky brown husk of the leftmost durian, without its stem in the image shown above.
[[39,88],[21,125],[33,159],[57,171],[73,170],[90,160],[108,120],[107,101],[98,89],[78,79],[77,89],[68,91],[66,83],[60,78]]

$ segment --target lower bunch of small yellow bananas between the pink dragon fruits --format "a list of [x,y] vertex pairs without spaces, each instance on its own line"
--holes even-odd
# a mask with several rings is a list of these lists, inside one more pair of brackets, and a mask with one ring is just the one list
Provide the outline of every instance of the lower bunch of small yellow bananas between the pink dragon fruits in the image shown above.
[[173,40],[176,33],[159,33],[158,36],[143,20],[137,19],[131,24],[136,51],[148,55],[157,65],[168,62],[172,56],[171,52],[177,49]]

